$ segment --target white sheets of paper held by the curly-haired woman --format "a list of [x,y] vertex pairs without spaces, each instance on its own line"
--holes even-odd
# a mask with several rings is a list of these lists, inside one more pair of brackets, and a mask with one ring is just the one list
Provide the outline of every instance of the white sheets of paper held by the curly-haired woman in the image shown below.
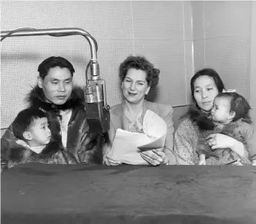
[[167,124],[159,115],[147,110],[143,118],[143,132],[116,130],[109,157],[133,165],[147,165],[140,152],[163,148],[167,133]]

